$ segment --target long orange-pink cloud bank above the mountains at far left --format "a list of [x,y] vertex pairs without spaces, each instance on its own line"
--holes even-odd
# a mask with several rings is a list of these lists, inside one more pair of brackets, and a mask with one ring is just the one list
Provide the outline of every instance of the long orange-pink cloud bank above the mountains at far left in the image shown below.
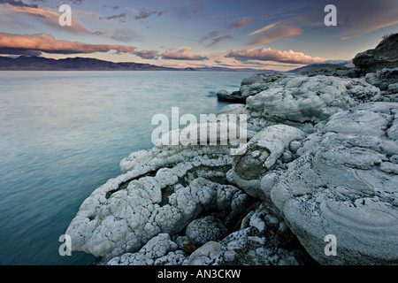
[[41,51],[52,54],[89,54],[115,50],[117,53],[131,53],[142,58],[155,57],[157,55],[157,53],[155,54],[157,52],[155,50],[136,50],[133,46],[60,41],[56,40],[50,34],[20,35],[0,33],[0,53],[2,53],[2,50],[13,51],[14,53],[11,54],[22,50]]

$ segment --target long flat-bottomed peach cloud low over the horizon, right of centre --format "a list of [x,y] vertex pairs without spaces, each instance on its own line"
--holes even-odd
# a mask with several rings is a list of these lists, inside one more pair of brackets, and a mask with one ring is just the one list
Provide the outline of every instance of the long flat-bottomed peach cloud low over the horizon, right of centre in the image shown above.
[[232,50],[226,55],[226,57],[233,57],[241,62],[246,62],[248,60],[260,60],[305,65],[325,61],[325,58],[310,57],[309,55],[305,55],[302,52],[295,52],[294,50],[281,51],[272,50],[271,48],[264,48],[260,50]]

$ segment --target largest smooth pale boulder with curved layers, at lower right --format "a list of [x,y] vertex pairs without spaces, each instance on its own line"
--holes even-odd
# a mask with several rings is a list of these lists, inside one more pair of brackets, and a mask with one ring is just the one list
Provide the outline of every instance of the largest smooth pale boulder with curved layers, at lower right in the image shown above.
[[[272,203],[321,264],[398,262],[398,105],[365,103],[318,125]],[[325,253],[325,236],[337,255]]]

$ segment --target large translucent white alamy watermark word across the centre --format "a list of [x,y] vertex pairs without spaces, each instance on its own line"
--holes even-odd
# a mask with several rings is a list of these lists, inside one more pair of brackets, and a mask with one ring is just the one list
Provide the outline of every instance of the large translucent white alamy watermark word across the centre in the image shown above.
[[[247,115],[201,114],[197,123],[194,114],[180,117],[179,107],[172,107],[172,121],[165,114],[153,116],[151,124],[158,125],[151,141],[161,145],[229,145],[231,154],[247,143]],[[182,126],[180,128],[180,126]]]

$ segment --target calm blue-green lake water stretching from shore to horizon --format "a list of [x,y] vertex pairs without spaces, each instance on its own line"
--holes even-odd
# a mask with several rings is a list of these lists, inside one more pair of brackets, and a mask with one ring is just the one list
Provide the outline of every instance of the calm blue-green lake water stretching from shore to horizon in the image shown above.
[[152,148],[152,116],[217,114],[217,91],[249,75],[0,72],[0,264],[89,264],[58,238],[122,158]]

